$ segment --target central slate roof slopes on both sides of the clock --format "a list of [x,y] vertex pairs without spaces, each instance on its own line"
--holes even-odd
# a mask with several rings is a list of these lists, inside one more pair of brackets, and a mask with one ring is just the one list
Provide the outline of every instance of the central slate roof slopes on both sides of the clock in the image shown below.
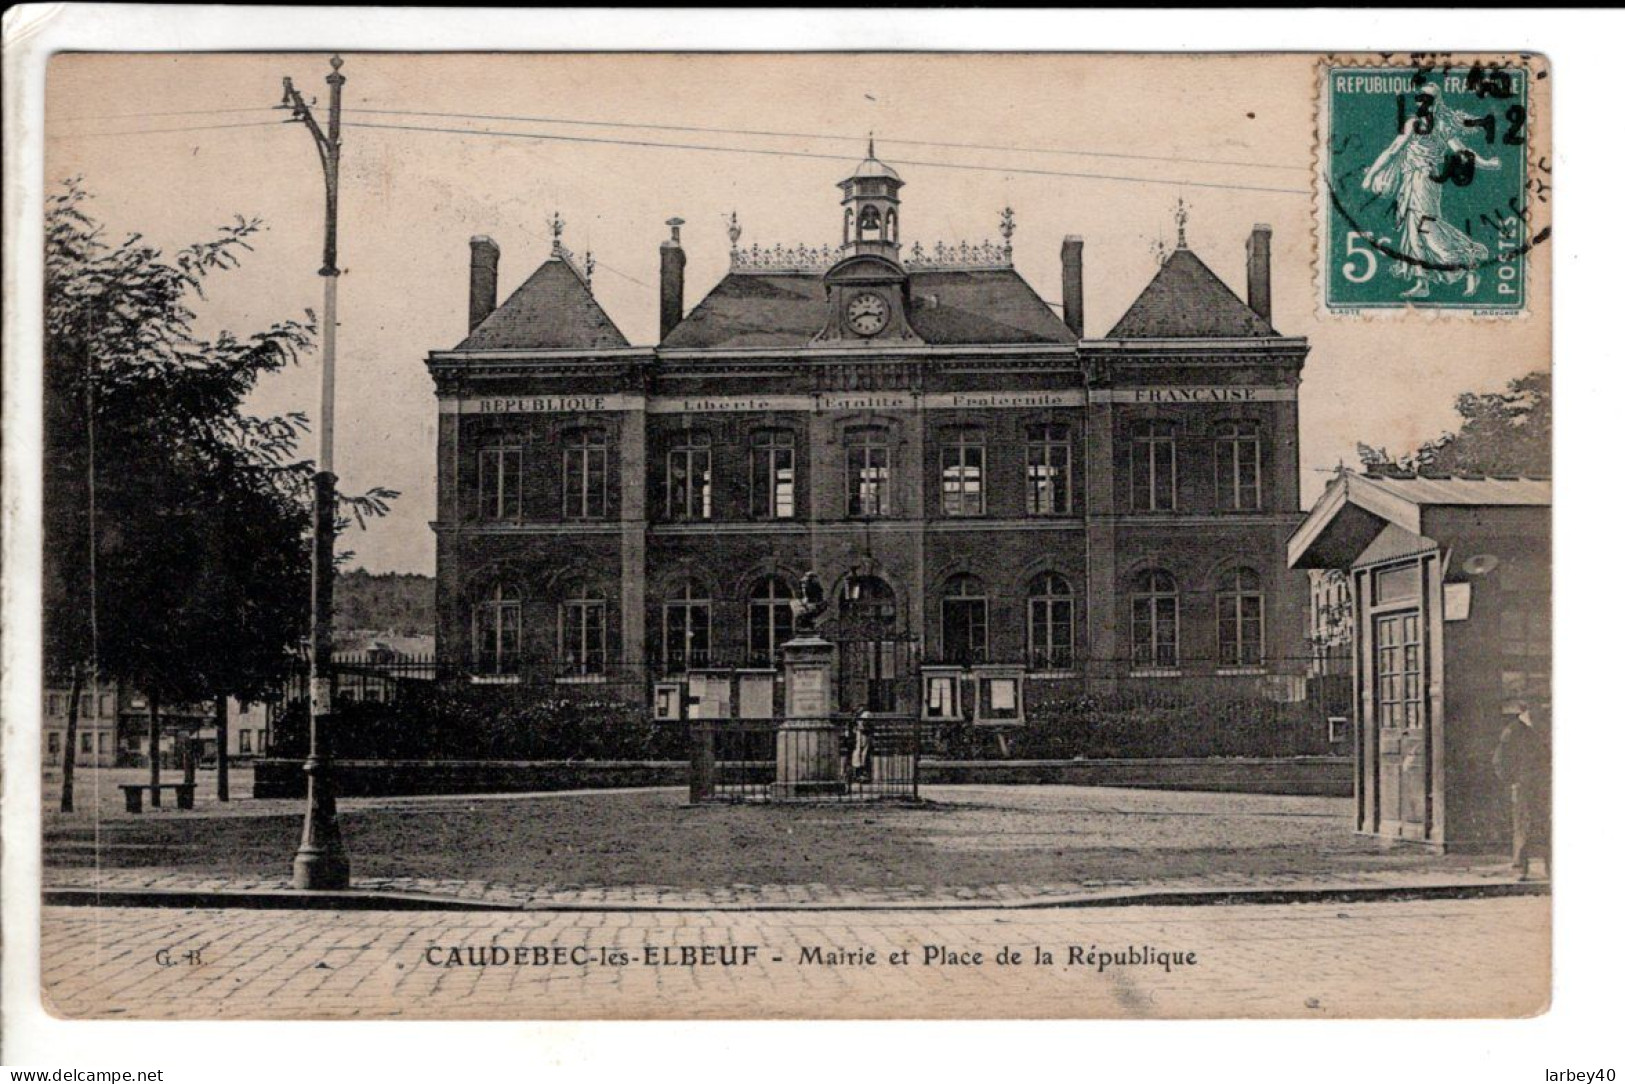
[[[1066,323],[1012,268],[912,271],[908,323],[930,345],[1074,343]],[[666,349],[806,346],[827,320],[824,280],[730,273],[661,341]]]

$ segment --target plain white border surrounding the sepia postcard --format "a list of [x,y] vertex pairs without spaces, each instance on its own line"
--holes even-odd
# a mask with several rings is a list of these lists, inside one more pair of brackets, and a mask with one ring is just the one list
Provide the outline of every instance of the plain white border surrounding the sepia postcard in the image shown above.
[[[1557,905],[1557,993],[1521,1022],[1372,1024],[68,1024],[37,1008],[39,780],[36,749],[5,728],[6,1064],[169,1069],[166,1081],[613,1079],[770,1076],[879,1077],[899,1071],[1008,1079],[1060,1077],[1540,1082],[1549,1068],[1620,1064],[1620,923],[1615,774],[1625,765],[1618,697],[1620,140],[1606,109],[1620,73],[1617,11],[452,11],[382,8],[23,7],[5,13],[6,297],[37,297],[39,122],[44,62],[84,49],[1079,49],[1357,52],[1506,50],[1552,59],[1557,89],[1555,231],[1558,388],[1557,817],[1565,858]],[[39,380],[29,343],[39,314],[5,310],[5,718],[32,712],[37,689]],[[1602,444],[1609,440],[1609,444]],[[1612,470],[1610,470],[1612,468]],[[1607,475],[1604,475],[1607,471]],[[21,533],[20,533],[21,531]],[[28,738],[28,735],[23,735]],[[1612,798],[1612,801],[1610,801]],[[1372,946],[1381,951],[1381,946]],[[1495,944],[1485,944],[1495,952]],[[1394,959],[1396,969],[1404,967]],[[629,1042],[630,1040],[630,1042]],[[822,1051],[822,1053],[819,1053]]]

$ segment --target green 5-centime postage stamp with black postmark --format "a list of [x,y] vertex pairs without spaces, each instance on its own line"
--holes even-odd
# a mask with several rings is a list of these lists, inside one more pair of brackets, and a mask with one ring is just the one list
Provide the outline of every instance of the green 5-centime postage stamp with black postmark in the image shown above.
[[1332,310],[1521,312],[1529,70],[1328,67],[1321,283]]

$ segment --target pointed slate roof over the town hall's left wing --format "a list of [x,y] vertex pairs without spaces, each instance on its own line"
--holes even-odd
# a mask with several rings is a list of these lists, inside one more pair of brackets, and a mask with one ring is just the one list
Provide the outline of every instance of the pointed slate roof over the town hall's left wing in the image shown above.
[[613,349],[629,346],[575,268],[554,257],[479,322],[457,349]]

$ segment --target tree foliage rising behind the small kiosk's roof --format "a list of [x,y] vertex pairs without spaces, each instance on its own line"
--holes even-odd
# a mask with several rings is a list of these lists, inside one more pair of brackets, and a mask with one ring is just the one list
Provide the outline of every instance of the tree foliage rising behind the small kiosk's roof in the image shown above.
[[1552,473],[1552,374],[1531,372],[1505,392],[1456,397],[1461,429],[1398,458],[1388,449],[1358,445],[1360,462],[1436,475]]

